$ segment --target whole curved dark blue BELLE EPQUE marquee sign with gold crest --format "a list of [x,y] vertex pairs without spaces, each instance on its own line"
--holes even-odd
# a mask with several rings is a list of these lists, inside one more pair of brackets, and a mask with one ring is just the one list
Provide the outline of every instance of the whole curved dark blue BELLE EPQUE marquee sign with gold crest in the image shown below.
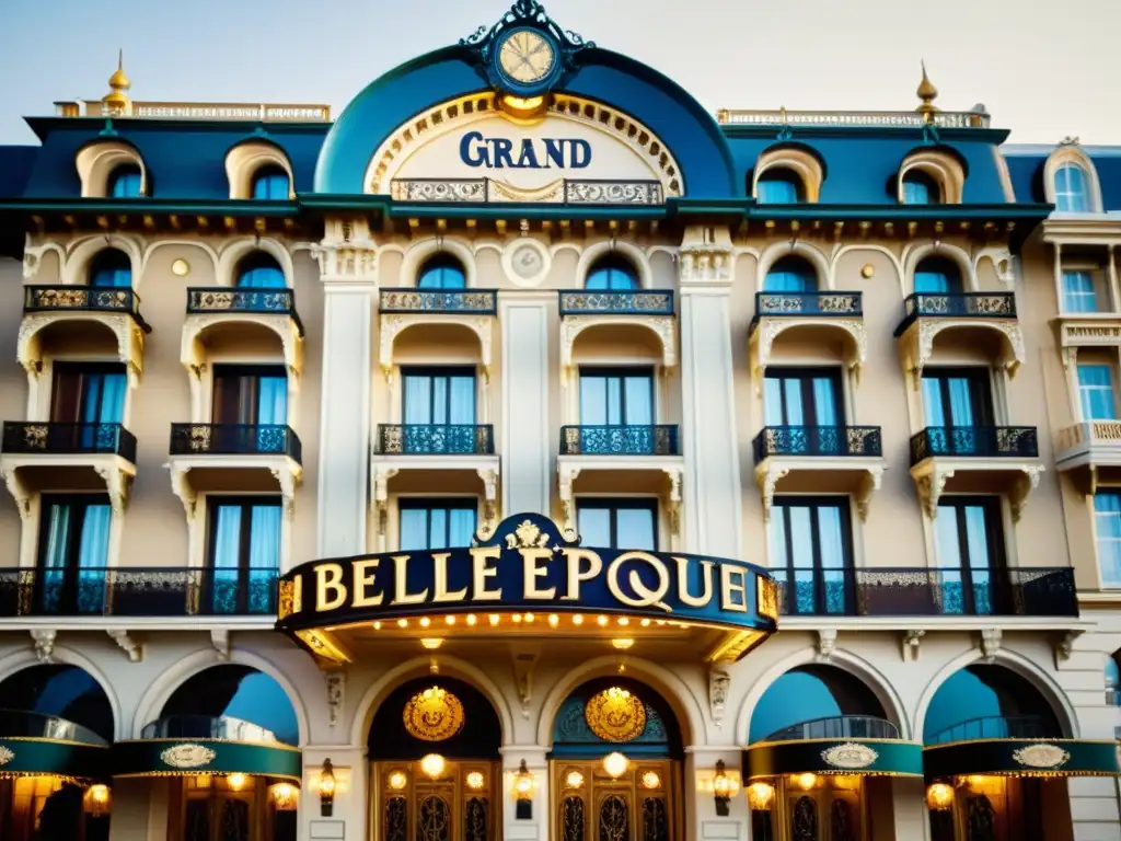
[[761,569],[679,553],[581,546],[517,515],[474,546],[302,564],[280,581],[277,629],[300,631],[469,613],[629,616],[775,630],[778,590]]

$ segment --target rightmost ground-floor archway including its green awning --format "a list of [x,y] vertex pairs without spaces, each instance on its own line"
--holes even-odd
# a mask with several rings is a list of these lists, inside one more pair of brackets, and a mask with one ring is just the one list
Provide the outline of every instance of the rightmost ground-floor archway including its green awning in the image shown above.
[[923,722],[934,841],[1068,838],[1063,777],[1078,776],[1081,757],[1063,737],[1051,704],[1010,668],[979,663],[947,677]]

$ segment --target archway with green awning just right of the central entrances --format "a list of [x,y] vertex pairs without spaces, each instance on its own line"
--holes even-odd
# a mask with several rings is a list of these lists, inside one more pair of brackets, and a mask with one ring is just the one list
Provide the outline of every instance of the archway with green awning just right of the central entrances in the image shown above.
[[752,838],[858,841],[891,832],[882,817],[891,814],[889,777],[923,774],[920,746],[899,736],[855,675],[818,664],[784,673],[751,715],[744,770]]

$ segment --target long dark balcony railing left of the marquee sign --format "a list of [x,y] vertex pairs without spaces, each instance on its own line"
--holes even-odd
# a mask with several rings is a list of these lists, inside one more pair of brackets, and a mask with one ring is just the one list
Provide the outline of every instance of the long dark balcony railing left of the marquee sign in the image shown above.
[[271,616],[275,569],[0,570],[0,617]]

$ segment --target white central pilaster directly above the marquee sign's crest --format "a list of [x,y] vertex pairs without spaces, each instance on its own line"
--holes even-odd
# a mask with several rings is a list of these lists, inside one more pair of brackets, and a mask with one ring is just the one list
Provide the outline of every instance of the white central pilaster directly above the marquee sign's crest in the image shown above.
[[[499,295],[502,510],[549,516],[557,443],[549,429],[549,335],[556,295]],[[507,838],[512,838],[507,835]]]

